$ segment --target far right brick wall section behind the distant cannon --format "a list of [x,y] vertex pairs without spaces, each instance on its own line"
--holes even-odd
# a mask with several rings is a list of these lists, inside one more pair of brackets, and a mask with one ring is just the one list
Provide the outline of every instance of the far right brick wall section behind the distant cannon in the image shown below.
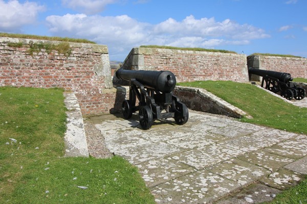
[[[248,67],[290,73],[293,78],[307,79],[307,59],[252,55],[247,57]],[[260,81],[259,77],[253,81]]]

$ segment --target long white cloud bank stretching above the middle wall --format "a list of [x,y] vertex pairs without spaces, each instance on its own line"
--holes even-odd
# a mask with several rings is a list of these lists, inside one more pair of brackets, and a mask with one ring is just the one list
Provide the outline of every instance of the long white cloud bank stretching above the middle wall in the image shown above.
[[110,57],[121,55],[122,60],[131,48],[139,45],[214,48],[246,45],[252,39],[270,37],[264,30],[252,25],[238,24],[229,19],[221,22],[214,18],[195,19],[193,16],[187,16],[182,21],[169,18],[158,24],[139,22],[127,15],[66,14],[48,16],[46,20],[54,35],[86,38],[106,44]]

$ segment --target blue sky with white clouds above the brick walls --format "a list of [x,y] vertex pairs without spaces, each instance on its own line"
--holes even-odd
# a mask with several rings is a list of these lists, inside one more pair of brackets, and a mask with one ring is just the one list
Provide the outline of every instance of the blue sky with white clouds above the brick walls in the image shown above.
[[0,32],[85,38],[123,61],[168,45],[307,58],[305,0],[0,0]]

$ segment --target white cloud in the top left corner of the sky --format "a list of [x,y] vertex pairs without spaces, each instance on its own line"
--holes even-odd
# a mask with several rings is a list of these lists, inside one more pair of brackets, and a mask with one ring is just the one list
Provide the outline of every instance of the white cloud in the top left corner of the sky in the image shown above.
[[35,2],[19,3],[11,0],[7,3],[0,0],[0,32],[19,32],[23,25],[33,24],[39,12],[45,7]]

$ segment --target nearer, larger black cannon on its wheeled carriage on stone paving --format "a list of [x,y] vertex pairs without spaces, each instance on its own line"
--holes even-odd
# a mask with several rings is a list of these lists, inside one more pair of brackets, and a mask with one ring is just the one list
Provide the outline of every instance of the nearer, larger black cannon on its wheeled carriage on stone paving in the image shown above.
[[118,69],[116,77],[129,82],[129,99],[122,103],[125,119],[139,111],[139,121],[144,130],[149,129],[155,119],[174,118],[177,124],[188,121],[188,108],[172,93],[176,86],[172,72]]

